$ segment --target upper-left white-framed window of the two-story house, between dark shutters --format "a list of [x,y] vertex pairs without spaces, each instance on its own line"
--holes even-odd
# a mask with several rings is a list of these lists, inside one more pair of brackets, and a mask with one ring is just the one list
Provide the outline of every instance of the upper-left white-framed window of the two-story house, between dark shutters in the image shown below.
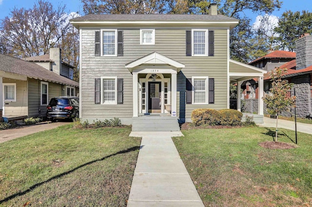
[[117,30],[102,30],[102,56],[117,56]]

